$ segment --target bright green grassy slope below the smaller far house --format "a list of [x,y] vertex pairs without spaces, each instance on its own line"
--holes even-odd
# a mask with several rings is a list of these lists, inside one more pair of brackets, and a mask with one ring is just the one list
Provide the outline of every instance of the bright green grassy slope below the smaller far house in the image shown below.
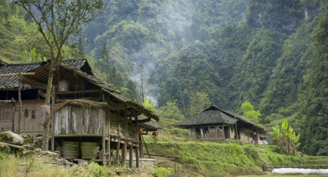
[[201,176],[263,175],[263,162],[282,165],[328,163],[328,157],[287,156],[275,153],[276,146],[240,141],[179,141],[168,136],[159,138],[156,143],[151,137],[145,136],[145,140],[151,154],[178,156],[176,161],[183,164],[182,171]]

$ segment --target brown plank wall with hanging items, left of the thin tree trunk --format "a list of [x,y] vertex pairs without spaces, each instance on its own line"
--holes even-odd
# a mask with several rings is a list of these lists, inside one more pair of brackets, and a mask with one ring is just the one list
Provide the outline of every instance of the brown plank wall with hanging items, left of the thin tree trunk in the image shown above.
[[[22,115],[21,115],[21,133],[26,133],[32,136],[41,136],[43,134],[43,126],[40,123],[39,107],[44,104],[44,100],[24,100],[22,101]],[[10,104],[11,105],[11,104]],[[27,110],[27,117],[25,112]],[[34,111],[35,117],[32,117]],[[19,103],[16,102],[15,111],[15,132],[18,131],[18,114]],[[0,121],[0,131],[11,131],[12,120]]]

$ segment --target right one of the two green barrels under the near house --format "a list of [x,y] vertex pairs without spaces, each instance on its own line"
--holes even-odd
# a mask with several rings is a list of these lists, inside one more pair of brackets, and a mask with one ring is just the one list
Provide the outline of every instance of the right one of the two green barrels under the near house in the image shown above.
[[99,143],[95,142],[81,142],[81,155],[82,159],[97,158],[99,151]]

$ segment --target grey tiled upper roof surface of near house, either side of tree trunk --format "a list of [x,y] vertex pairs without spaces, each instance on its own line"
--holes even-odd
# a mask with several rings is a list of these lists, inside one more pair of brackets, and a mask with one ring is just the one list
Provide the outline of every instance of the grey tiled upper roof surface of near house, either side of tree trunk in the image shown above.
[[[47,64],[48,62],[37,62],[37,63],[27,63],[27,64],[7,64],[0,61],[0,74],[10,74],[10,73],[21,73],[29,72],[40,66]],[[78,70],[83,70],[88,74],[92,74],[91,68],[87,63],[86,59],[76,59],[76,60],[64,60],[63,64],[70,65]],[[0,90],[17,90],[19,76],[11,77],[0,77]],[[31,89],[32,87],[23,84],[22,89]]]

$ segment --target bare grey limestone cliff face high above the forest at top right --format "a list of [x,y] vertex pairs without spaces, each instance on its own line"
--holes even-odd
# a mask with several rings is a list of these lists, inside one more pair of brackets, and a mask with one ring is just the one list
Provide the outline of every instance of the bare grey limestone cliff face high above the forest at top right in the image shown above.
[[309,11],[301,0],[251,0],[246,20],[252,27],[292,34],[305,16]]

